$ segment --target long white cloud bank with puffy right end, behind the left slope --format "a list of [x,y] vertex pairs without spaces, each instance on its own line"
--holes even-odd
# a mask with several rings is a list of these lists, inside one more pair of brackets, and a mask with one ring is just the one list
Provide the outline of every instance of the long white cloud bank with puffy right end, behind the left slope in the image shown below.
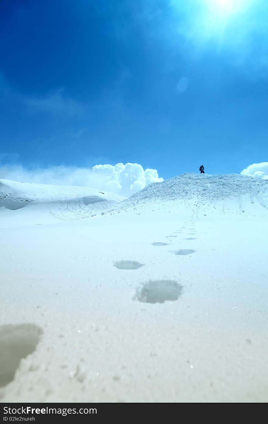
[[146,185],[163,181],[156,169],[137,163],[95,165],[93,168],[54,166],[27,170],[18,165],[0,165],[0,178],[37,184],[74,185],[130,196]]

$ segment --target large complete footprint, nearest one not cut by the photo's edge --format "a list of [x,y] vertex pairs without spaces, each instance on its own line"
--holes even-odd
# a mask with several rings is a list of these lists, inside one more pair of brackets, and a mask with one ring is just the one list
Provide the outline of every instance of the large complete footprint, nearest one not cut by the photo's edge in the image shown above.
[[137,288],[135,299],[146,303],[164,303],[165,301],[178,300],[182,293],[182,285],[177,281],[156,280],[144,283],[142,288]]

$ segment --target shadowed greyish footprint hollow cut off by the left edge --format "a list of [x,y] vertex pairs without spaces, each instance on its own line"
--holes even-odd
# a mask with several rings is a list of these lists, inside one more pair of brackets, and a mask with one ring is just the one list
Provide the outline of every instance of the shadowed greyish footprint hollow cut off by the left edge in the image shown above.
[[33,353],[41,334],[35,324],[0,326],[0,386],[14,379],[20,361]]

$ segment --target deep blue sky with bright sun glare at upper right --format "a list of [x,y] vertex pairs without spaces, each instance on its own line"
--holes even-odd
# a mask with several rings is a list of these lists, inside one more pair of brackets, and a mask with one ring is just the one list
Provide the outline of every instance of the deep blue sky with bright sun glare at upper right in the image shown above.
[[267,159],[264,0],[2,0],[0,161],[164,179]]

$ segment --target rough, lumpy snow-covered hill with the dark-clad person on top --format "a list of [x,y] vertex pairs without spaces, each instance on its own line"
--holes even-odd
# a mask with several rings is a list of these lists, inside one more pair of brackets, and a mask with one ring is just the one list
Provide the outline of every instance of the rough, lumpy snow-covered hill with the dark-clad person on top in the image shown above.
[[[184,173],[161,183],[150,184],[116,207],[130,209],[146,204],[181,205],[218,213],[268,211],[268,180],[238,174],[207,175]],[[252,206],[254,205],[254,206]],[[247,209],[247,210],[244,210]]]

